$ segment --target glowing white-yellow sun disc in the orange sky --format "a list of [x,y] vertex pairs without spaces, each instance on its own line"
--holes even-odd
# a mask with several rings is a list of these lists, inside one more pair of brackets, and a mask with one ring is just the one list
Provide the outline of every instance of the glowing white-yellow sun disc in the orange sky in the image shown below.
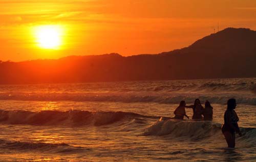
[[61,45],[62,29],[59,25],[40,25],[35,29],[38,46],[46,49],[58,49]]

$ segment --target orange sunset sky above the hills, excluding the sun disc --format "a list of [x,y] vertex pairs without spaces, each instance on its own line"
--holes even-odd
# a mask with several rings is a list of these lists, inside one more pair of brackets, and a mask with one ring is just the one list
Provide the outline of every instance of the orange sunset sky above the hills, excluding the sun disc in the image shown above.
[[[256,1],[0,0],[0,60],[159,53],[213,33],[218,22],[220,30],[256,30]],[[36,44],[40,25],[63,28],[59,49]]]

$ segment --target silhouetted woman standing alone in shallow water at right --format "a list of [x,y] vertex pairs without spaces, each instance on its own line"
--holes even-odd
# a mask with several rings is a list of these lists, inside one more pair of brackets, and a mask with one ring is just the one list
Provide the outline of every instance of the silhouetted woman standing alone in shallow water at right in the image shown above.
[[231,98],[227,101],[227,110],[224,114],[224,124],[221,128],[222,133],[225,136],[227,145],[230,148],[234,148],[236,145],[236,136],[235,132],[239,133],[239,136],[242,136],[241,131],[238,126],[238,115],[234,111],[236,109],[237,103],[236,99]]

